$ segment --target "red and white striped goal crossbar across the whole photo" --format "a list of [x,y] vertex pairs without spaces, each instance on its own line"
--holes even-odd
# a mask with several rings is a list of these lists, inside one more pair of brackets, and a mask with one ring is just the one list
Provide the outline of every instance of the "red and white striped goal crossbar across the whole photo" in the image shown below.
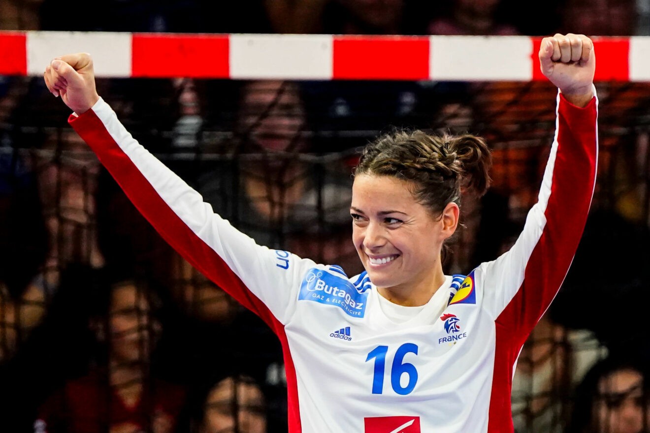
[[[594,37],[596,80],[650,82],[650,36]],[[541,38],[0,31],[0,75],[41,75],[66,53],[98,77],[291,80],[543,80]]]

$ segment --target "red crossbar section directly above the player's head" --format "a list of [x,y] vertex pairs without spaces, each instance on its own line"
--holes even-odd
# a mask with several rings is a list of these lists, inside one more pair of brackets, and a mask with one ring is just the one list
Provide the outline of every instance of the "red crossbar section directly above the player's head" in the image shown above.
[[429,38],[335,36],[333,79],[422,80],[429,78]]

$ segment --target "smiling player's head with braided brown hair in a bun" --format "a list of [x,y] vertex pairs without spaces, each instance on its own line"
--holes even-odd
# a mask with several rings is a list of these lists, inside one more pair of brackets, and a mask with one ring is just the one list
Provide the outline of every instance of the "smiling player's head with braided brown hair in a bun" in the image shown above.
[[383,297],[424,305],[444,284],[441,251],[458,227],[461,190],[485,193],[490,162],[486,143],[471,135],[398,131],[365,148],[352,188],[352,238]]

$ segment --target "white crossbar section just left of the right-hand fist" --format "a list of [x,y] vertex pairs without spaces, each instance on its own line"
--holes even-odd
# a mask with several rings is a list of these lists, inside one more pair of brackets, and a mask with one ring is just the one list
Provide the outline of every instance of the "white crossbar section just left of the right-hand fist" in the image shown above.
[[431,36],[432,80],[530,80],[528,36]]

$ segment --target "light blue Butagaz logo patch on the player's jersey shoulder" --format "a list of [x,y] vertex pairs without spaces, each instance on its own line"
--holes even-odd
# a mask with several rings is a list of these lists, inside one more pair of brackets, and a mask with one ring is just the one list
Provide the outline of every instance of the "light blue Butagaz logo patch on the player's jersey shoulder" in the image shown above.
[[298,294],[298,300],[335,305],[353,317],[363,317],[367,298],[350,281],[317,268],[309,269]]

